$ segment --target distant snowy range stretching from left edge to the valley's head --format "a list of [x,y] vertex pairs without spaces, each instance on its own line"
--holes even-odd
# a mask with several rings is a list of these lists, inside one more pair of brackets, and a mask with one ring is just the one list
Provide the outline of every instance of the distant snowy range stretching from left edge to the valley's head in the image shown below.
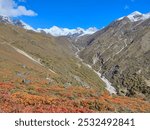
[[7,24],[12,24],[15,26],[19,26],[21,28],[27,29],[27,30],[32,30],[35,32],[41,32],[45,34],[50,34],[53,36],[70,36],[70,37],[79,37],[83,35],[91,35],[98,31],[96,27],[90,27],[88,29],[83,29],[83,28],[76,28],[76,29],[68,29],[68,28],[61,28],[57,26],[53,26],[49,29],[34,29],[30,25],[26,24],[22,20],[19,19],[13,19],[7,16],[0,16],[0,22],[7,23]]

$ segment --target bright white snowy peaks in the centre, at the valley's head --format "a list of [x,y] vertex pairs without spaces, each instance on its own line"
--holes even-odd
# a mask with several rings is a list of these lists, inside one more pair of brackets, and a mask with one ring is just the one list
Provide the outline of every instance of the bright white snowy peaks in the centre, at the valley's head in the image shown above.
[[91,27],[88,29],[83,29],[83,28],[76,28],[76,29],[69,29],[69,28],[60,28],[57,26],[53,26],[49,29],[41,29],[38,28],[38,32],[45,32],[47,34],[51,34],[53,36],[71,36],[71,35],[76,35],[76,36],[81,36],[81,35],[86,35],[86,34],[93,34],[97,31],[98,29],[95,27]]

